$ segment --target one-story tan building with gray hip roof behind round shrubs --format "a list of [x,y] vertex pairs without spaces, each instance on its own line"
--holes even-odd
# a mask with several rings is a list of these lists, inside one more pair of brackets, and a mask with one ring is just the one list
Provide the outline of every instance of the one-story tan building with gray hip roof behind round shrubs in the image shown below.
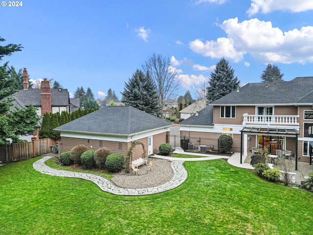
[[[144,143],[148,155],[154,153],[172,124],[132,106],[104,106],[54,130],[61,132],[59,152],[70,151],[83,144],[89,149],[109,148],[112,153],[124,156],[133,141]],[[133,149],[133,159],[142,157],[142,147]]]

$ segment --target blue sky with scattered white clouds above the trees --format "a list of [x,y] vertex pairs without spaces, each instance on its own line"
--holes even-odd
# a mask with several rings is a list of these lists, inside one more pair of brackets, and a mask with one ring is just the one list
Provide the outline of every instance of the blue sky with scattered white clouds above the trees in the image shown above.
[[[311,0],[23,0],[0,6],[0,36],[22,44],[2,62],[71,94],[90,87],[121,98],[125,82],[153,53],[170,57],[178,95],[208,81],[224,57],[244,85],[268,63],[290,81],[313,76]],[[2,4],[2,3],[1,3]]]

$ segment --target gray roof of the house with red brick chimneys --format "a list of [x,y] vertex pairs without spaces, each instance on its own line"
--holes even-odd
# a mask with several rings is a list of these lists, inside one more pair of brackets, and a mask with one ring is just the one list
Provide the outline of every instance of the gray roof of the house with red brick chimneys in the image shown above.
[[[34,106],[41,106],[41,89],[28,88],[28,90],[21,90],[14,93],[12,96],[18,98],[25,106],[29,106],[31,103]],[[69,105],[69,93],[67,89],[51,89],[51,103],[52,106],[68,106]]]

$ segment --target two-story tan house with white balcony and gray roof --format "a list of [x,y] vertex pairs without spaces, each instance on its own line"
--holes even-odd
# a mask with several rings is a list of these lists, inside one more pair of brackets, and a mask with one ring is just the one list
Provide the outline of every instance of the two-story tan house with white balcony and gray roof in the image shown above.
[[252,147],[290,150],[309,161],[313,141],[313,77],[289,82],[248,83],[212,102],[181,123],[186,136],[233,138],[232,151],[247,154]]

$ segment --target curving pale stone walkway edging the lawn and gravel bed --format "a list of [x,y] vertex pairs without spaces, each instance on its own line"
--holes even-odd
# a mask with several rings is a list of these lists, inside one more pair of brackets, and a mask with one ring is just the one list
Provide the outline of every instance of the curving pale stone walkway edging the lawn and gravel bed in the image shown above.
[[47,175],[69,177],[69,178],[80,178],[84,180],[89,180],[95,183],[101,190],[105,192],[110,192],[116,195],[137,196],[137,195],[148,195],[148,194],[164,192],[164,191],[178,187],[187,179],[187,176],[188,176],[188,173],[185,167],[183,166],[183,161],[173,161],[171,164],[171,167],[173,169],[174,176],[169,182],[163,185],[150,187],[150,188],[120,188],[116,186],[114,183],[112,183],[111,180],[108,180],[107,178],[102,177],[100,175],[82,173],[82,172],[71,172],[67,170],[58,170],[58,169],[51,168],[45,164],[45,161],[50,158],[52,157],[46,156],[34,162],[33,163],[34,169]]

